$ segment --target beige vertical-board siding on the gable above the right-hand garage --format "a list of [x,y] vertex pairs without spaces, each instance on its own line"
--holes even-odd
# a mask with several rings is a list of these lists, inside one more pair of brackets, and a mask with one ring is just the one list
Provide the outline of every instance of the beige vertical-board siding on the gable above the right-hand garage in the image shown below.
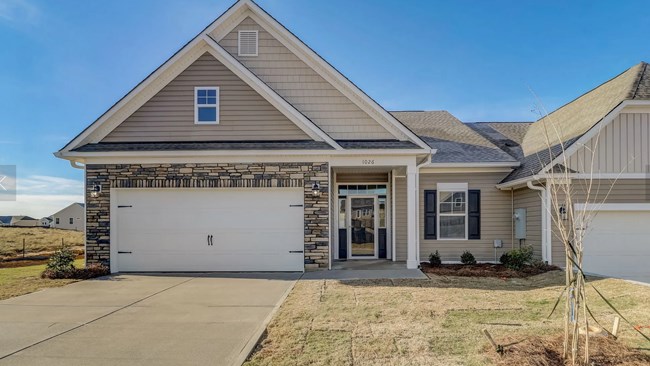
[[588,173],[645,173],[650,166],[650,114],[621,113],[569,158]]

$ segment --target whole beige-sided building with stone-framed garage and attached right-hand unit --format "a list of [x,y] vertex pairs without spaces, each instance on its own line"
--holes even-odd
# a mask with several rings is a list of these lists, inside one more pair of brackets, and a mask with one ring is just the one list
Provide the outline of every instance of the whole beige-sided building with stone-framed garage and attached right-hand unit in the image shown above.
[[[603,182],[638,157],[593,223],[593,272],[647,268],[648,75],[637,65],[549,116],[565,126],[553,144],[569,146],[576,182],[590,173],[585,148],[607,146]],[[541,143],[549,118],[388,112],[241,0],[55,155],[85,170],[87,263],[113,272],[417,268],[436,250],[495,261],[520,244],[563,266],[545,193],[559,161]]]

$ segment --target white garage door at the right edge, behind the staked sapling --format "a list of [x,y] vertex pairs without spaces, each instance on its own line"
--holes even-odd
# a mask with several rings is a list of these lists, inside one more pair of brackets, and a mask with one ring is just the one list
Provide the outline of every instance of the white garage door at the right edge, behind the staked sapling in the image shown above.
[[583,269],[650,282],[650,210],[599,211],[585,234]]

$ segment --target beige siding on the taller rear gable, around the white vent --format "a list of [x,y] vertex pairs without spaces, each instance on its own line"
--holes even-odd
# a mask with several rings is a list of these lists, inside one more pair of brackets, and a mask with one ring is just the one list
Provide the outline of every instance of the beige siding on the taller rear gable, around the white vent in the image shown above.
[[[238,56],[240,30],[258,31],[258,56]],[[219,44],[332,138],[395,138],[250,17]]]

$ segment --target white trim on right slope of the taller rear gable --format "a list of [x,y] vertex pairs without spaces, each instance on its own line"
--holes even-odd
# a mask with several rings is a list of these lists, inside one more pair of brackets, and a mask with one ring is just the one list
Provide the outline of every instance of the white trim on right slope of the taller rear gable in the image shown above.
[[[316,52],[311,48],[306,46],[300,39],[288,31],[282,24],[277,20],[271,17],[264,9],[260,8],[256,3],[250,0],[242,0],[241,6],[247,6],[251,14],[247,14],[253,20],[255,20],[260,25],[266,25],[264,27],[267,32],[271,33],[280,43],[287,47],[291,52],[293,52],[298,58],[305,62],[309,67],[316,71],[321,77],[327,80],[329,83],[337,87],[337,89],[348,97],[357,107],[361,108],[364,112],[372,117],[376,115],[379,118],[375,120],[382,125],[388,131],[395,130],[401,132],[403,135],[407,136],[411,141],[422,148],[428,148],[428,145],[422,141],[416,134],[411,130],[406,128],[401,122],[399,122],[395,117],[388,113],[383,107],[381,107],[377,102],[372,100],[367,94],[365,94],[359,87],[354,85],[350,80],[343,76],[338,70],[336,70],[332,65],[323,60]],[[240,10],[237,8],[233,11]],[[228,12],[227,12],[228,13]],[[225,15],[225,14],[224,14]],[[217,21],[209,26],[205,33],[212,33],[214,30],[223,25],[223,29],[220,30],[218,39],[223,38],[226,34],[230,33],[233,28],[239,24],[238,22],[230,22],[226,25],[226,17],[222,18],[221,21]],[[398,136],[395,136],[398,137]],[[398,137],[399,140],[401,140]]]

